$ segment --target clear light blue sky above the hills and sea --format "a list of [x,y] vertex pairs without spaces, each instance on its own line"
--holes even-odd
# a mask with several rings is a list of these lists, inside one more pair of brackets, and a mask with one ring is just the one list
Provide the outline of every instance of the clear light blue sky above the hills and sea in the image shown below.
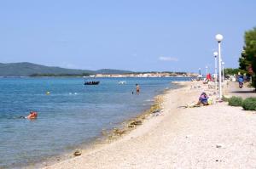
[[0,1],[0,63],[72,69],[213,71],[215,35],[238,67],[255,0]]

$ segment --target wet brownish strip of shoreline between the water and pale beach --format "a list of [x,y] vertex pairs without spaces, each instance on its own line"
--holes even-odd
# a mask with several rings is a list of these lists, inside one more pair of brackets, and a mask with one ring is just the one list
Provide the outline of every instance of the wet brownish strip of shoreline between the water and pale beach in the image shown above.
[[[92,141],[90,144],[85,145],[86,148],[81,148],[79,150],[82,151],[82,155],[90,155],[91,153],[96,152],[97,150],[104,149],[105,147],[108,147],[111,144],[116,144],[119,141],[122,141],[131,134],[131,132],[135,132],[139,127],[143,127],[145,123],[152,120],[152,118],[156,116],[160,116],[163,110],[163,103],[164,103],[164,97],[168,93],[172,93],[172,91],[182,89],[183,87],[187,87],[186,84],[183,84],[183,82],[172,82],[176,85],[176,87],[164,89],[160,94],[154,96],[154,104],[150,106],[148,110],[144,110],[141,114],[137,115],[136,117],[133,117],[131,119],[127,119],[126,121],[120,122],[120,127],[113,128],[112,130],[106,131],[106,133],[102,133],[101,138],[97,138],[95,141]],[[155,115],[154,115],[155,114]],[[132,122],[135,121],[142,121],[142,124],[134,125],[133,127],[129,127]],[[75,149],[73,149],[74,151]],[[65,159],[56,160],[57,158],[60,158],[59,156],[54,157],[54,161],[45,161],[43,163],[39,163],[38,167],[40,168],[48,168],[51,166],[55,166],[56,164],[65,162],[65,161],[72,161],[75,158],[79,158],[80,156],[74,156],[72,155],[73,152],[69,152],[66,155]],[[26,166],[25,168],[30,168],[34,166]]]

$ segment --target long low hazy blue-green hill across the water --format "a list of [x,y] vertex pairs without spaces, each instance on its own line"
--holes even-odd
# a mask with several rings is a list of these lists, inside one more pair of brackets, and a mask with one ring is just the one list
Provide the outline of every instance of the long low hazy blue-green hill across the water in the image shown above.
[[66,69],[55,66],[45,66],[32,64],[28,62],[22,63],[0,63],[0,76],[83,76],[83,75],[93,75],[97,73],[101,74],[125,74],[131,73],[127,70],[74,70]]

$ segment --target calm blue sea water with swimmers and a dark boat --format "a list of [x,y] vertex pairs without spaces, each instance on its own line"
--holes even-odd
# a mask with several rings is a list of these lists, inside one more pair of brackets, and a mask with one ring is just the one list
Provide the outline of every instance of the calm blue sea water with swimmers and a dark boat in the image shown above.
[[[140,114],[172,81],[189,78],[0,78],[0,168],[60,155]],[[119,81],[127,82],[119,85]],[[131,94],[135,84],[140,95]],[[46,92],[50,92],[49,95]],[[38,119],[20,119],[30,110]]]

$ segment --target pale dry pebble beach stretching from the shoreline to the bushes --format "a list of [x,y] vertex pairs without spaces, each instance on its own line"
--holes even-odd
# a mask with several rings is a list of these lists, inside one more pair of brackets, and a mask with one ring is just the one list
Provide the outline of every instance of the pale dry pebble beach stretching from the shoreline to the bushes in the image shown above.
[[179,84],[164,94],[160,115],[149,115],[110,144],[44,168],[256,168],[255,111],[225,102],[180,107],[213,89],[201,82]]

